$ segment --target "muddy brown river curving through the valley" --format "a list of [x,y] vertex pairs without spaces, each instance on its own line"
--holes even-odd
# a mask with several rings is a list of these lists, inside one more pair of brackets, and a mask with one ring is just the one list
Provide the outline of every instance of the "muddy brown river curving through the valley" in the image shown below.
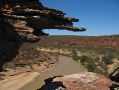
[[81,72],[86,72],[86,69],[80,62],[72,60],[71,57],[59,56],[59,62],[54,68],[42,73],[36,78],[35,82],[29,83],[27,86],[23,87],[22,90],[36,90],[44,85],[45,79],[50,77],[77,74]]

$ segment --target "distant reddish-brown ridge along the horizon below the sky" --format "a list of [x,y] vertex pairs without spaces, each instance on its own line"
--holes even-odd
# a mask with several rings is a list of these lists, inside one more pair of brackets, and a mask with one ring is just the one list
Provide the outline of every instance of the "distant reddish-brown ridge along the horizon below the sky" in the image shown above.
[[[50,41],[50,42],[49,42]],[[72,48],[119,48],[119,35],[41,37],[41,46]]]

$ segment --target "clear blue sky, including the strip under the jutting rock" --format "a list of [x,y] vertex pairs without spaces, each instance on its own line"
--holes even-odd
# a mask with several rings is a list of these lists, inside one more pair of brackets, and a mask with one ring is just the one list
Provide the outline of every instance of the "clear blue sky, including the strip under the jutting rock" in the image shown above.
[[79,19],[74,26],[85,32],[44,30],[50,35],[113,35],[119,34],[119,0],[42,0],[44,6],[62,10],[69,17]]

